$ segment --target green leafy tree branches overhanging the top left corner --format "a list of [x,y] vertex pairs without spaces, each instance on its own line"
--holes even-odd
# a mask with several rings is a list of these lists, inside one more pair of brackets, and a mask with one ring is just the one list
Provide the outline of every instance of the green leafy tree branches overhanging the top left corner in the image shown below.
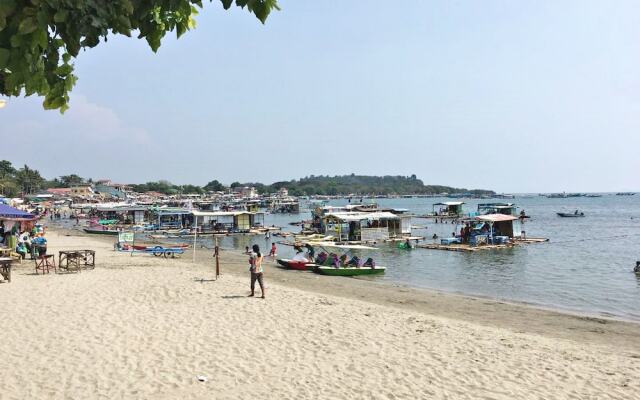
[[[277,0],[234,3],[264,23]],[[145,39],[155,52],[167,32],[195,26],[202,0],[0,0],[0,95],[44,97],[45,109],[64,112],[76,83],[73,59],[109,35]]]

